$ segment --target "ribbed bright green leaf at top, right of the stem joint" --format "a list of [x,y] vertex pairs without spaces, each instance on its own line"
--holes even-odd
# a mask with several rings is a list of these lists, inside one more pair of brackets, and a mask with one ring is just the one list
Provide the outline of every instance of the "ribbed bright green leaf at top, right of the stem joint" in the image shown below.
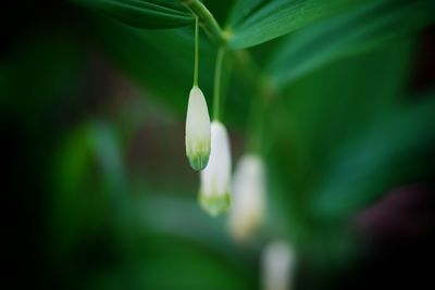
[[239,1],[229,16],[228,30],[233,35],[229,46],[238,49],[257,46],[363,1]]

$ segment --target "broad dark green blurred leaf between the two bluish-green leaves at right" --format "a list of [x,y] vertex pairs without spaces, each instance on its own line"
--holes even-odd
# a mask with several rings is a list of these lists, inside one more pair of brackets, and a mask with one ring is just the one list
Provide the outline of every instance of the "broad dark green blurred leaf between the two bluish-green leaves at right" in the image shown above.
[[290,236],[301,243],[311,242],[310,231],[324,226],[312,223],[309,201],[330,174],[331,155],[399,105],[413,47],[409,39],[330,63],[272,103],[266,138],[273,139],[271,178],[282,197],[271,199],[283,204]]

